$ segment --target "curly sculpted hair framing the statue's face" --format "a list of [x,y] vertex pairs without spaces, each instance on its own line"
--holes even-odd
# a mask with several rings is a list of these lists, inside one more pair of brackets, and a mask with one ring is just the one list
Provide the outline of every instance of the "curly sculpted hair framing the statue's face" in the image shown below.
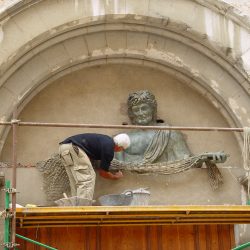
[[139,90],[128,96],[128,116],[131,121],[133,121],[134,114],[132,112],[132,107],[141,103],[147,103],[153,109],[153,119],[154,122],[157,118],[157,102],[155,96],[148,90]]

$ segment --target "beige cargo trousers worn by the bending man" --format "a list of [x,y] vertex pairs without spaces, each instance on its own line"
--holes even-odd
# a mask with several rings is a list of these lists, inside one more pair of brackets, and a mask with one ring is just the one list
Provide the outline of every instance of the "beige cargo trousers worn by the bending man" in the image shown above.
[[96,174],[89,157],[82,149],[79,147],[78,149],[78,152],[76,152],[72,143],[61,144],[59,146],[59,154],[65,162],[71,196],[92,200]]

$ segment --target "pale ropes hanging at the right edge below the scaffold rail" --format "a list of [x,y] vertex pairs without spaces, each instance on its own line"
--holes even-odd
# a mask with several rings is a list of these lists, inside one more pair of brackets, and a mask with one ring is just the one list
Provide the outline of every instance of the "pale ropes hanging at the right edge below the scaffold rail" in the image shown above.
[[244,134],[244,144],[243,144],[243,151],[242,151],[243,167],[246,170],[246,177],[248,179],[247,194],[249,197],[249,193],[250,193],[250,128],[244,127],[243,134]]

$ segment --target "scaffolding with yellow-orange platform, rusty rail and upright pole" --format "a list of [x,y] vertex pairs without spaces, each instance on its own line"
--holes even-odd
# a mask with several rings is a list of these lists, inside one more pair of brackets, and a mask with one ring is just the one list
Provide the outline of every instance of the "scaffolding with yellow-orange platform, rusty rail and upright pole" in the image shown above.
[[[5,235],[9,235],[8,224],[11,217],[11,242],[5,238],[7,248],[14,248],[16,237],[41,244],[16,234],[16,225],[20,227],[75,226],[75,221],[81,225],[139,225],[139,224],[207,224],[207,223],[249,223],[249,206],[164,206],[164,207],[84,207],[84,208],[16,208],[16,168],[17,168],[17,130],[19,126],[32,127],[68,127],[68,128],[107,128],[107,129],[142,129],[142,130],[183,130],[183,131],[219,131],[243,132],[243,128],[222,127],[180,127],[180,126],[138,126],[138,125],[103,125],[103,124],[76,124],[76,123],[45,123],[22,122],[17,120],[16,110],[10,122],[0,122],[1,126],[12,127],[12,188],[6,187],[12,197],[12,208],[9,209],[6,200],[5,210],[10,213],[5,225]],[[9,184],[8,184],[9,185]],[[7,195],[7,194],[6,194]],[[51,217],[52,216],[52,217]],[[60,219],[66,224],[61,224]],[[160,218],[156,220],[156,218]],[[66,220],[65,220],[66,219]],[[30,222],[32,221],[32,223]],[[41,223],[41,221],[43,221]],[[45,222],[51,223],[46,224]],[[59,223],[58,223],[59,222]],[[46,246],[46,245],[44,245]],[[48,246],[47,246],[48,247]],[[49,247],[48,247],[49,248]],[[49,248],[55,249],[55,248]]]

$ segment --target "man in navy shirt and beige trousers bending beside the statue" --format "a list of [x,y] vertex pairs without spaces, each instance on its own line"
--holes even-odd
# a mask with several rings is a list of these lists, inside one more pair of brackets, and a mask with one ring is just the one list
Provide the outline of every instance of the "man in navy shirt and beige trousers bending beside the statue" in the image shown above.
[[59,154],[65,163],[71,196],[93,199],[96,174],[90,159],[100,160],[100,176],[111,180],[123,177],[121,171],[111,173],[109,166],[114,152],[122,151],[129,145],[127,134],[118,134],[114,138],[103,134],[78,134],[60,142]]

